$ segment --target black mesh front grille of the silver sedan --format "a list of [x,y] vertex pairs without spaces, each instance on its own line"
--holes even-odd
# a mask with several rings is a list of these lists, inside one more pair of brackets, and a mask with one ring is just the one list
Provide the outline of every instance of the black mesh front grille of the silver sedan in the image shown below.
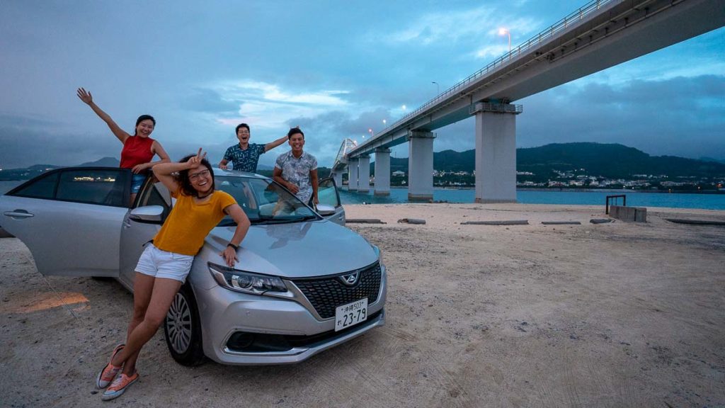
[[[355,285],[347,286],[339,277],[360,272]],[[328,319],[335,317],[335,309],[362,298],[368,298],[368,304],[375,303],[380,293],[381,280],[380,263],[367,266],[357,271],[345,272],[334,277],[322,277],[306,280],[293,280],[302,294],[312,303],[312,307],[320,317]]]

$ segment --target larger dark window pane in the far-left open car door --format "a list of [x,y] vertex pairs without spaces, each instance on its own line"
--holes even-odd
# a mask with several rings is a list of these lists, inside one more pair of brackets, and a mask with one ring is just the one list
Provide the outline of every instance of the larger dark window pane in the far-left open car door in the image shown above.
[[69,169],[60,173],[56,200],[128,207],[130,172],[122,169]]

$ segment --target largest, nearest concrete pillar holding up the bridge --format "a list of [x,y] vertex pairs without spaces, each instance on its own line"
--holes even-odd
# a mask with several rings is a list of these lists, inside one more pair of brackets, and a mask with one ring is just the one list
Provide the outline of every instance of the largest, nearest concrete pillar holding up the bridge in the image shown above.
[[516,116],[521,105],[478,103],[476,203],[516,202]]

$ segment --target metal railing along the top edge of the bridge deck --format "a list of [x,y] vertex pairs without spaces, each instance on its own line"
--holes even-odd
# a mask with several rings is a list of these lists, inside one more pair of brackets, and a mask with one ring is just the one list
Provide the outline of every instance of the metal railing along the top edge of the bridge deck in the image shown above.
[[383,131],[378,132],[378,134],[385,133],[390,128],[395,128],[399,126],[402,123],[405,123],[410,118],[413,118],[415,115],[418,115],[418,113],[423,112],[423,110],[428,109],[428,107],[431,107],[447,97],[448,95],[454,93],[455,91],[458,91],[459,89],[463,89],[465,86],[467,86],[469,83],[476,81],[477,79],[481,78],[481,76],[486,75],[487,73],[492,72],[496,68],[500,68],[502,65],[508,64],[513,57],[518,57],[522,52],[526,51],[527,49],[531,49],[534,46],[539,46],[542,44],[542,42],[549,40],[550,38],[554,38],[558,33],[560,33],[563,30],[566,30],[570,25],[574,23],[578,23],[581,20],[584,20],[585,18],[589,17],[594,12],[597,12],[597,10],[601,9],[603,6],[609,3],[613,3],[616,1],[621,0],[591,0],[589,3],[584,4],[584,6],[579,7],[576,11],[572,12],[570,15],[564,17],[563,19],[559,20],[557,23],[554,23],[550,27],[542,30],[540,33],[538,33],[536,36],[533,36],[529,38],[528,41],[523,42],[523,44],[520,44],[516,46],[516,48],[511,49],[506,54],[503,54],[501,57],[498,57],[494,62],[489,63],[489,65],[486,65],[484,68],[481,68],[480,70],[477,70],[475,73],[472,73],[470,76],[466,77],[462,81],[456,83],[454,86],[451,86],[449,89],[446,89],[441,94],[438,94],[433,99],[429,100],[428,102],[421,105],[421,107],[418,107],[418,109],[413,110],[412,112],[408,113],[407,115],[403,116],[402,118],[395,121],[392,125],[387,126],[383,129]]

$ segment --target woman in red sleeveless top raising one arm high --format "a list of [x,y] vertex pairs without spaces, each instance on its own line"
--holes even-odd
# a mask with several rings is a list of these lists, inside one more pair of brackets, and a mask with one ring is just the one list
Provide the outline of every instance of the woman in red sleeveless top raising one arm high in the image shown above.
[[[101,110],[98,105],[93,102],[93,95],[86,89],[78,88],[78,98],[85,102],[91,109],[99,115],[99,118],[111,129],[113,134],[123,143],[121,150],[121,168],[130,168],[133,171],[133,182],[131,183],[131,203],[136,199],[138,189],[144,184],[146,174],[158,163],[168,163],[169,155],[161,144],[152,139],[151,134],[156,126],[156,120],[152,115],[141,115],[136,119],[136,132],[131,136],[120,128],[113,119]],[[152,161],[154,155],[158,155],[160,160]]]

